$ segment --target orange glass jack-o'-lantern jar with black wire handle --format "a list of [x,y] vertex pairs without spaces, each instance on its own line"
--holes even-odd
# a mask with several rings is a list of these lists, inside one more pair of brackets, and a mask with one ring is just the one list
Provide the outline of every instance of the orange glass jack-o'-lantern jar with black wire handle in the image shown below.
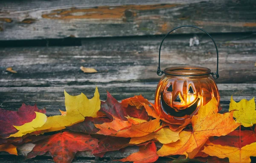
[[[197,26],[193,27],[204,31]],[[174,31],[173,29],[172,31]],[[170,31],[168,34],[170,34]],[[215,97],[218,105],[220,101],[218,87],[214,81],[218,75],[218,48],[212,39],[217,52],[217,71],[212,73],[210,69],[196,66],[169,67],[162,71],[160,69],[160,51],[165,38],[163,38],[159,48],[159,65],[157,74],[164,76],[160,79],[155,94],[155,105],[158,112],[171,123],[182,123],[187,118],[197,114],[201,106],[207,104],[212,97]]]

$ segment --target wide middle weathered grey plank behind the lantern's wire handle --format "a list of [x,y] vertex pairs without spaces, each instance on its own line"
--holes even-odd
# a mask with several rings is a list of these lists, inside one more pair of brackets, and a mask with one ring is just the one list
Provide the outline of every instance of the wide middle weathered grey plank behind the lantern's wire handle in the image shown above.
[[[212,42],[200,37],[200,45],[189,47],[193,35],[170,36],[163,44],[161,68],[204,66],[215,71]],[[256,35],[213,35],[219,49],[217,83],[256,81]],[[242,39],[243,37],[249,37]],[[82,46],[0,48],[0,86],[84,85],[127,81],[159,81],[156,74],[162,37],[85,39]],[[18,73],[5,71],[13,67]],[[80,66],[99,73],[84,74]]]

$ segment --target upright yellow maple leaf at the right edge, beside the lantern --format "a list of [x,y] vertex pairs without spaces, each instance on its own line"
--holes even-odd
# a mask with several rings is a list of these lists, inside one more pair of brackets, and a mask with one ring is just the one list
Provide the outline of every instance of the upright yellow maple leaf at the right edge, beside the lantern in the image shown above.
[[251,127],[256,124],[254,97],[249,101],[242,99],[240,102],[236,103],[231,96],[229,111],[232,110],[234,110],[233,117],[235,117],[236,121],[241,123],[244,127]]

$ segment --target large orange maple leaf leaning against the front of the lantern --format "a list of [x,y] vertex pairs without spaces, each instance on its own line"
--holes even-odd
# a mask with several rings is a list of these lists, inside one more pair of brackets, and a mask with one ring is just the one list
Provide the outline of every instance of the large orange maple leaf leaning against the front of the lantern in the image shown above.
[[205,106],[201,106],[198,114],[192,117],[192,132],[180,132],[180,140],[164,144],[157,151],[159,156],[184,154],[193,158],[211,136],[222,136],[235,130],[240,123],[233,120],[233,112],[219,114],[217,100],[212,98]]

